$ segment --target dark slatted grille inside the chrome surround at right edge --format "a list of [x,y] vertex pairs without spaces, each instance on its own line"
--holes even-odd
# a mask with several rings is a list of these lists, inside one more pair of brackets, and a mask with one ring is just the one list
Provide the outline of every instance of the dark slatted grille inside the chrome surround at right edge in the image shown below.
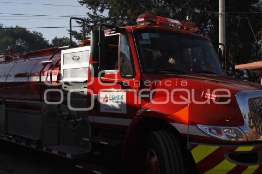
[[250,125],[256,128],[258,135],[262,135],[262,98],[250,98],[248,100]]

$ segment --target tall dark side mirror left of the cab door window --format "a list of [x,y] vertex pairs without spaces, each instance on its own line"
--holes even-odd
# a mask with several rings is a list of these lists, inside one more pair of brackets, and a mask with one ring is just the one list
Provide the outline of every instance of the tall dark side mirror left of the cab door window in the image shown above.
[[99,30],[91,31],[90,54],[93,61],[99,61]]

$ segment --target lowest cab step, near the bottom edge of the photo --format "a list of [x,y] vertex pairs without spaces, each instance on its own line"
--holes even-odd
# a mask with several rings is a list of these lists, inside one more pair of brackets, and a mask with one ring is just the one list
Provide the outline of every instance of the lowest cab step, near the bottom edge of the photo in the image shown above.
[[119,172],[113,171],[112,169],[108,169],[101,166],[96,166],[94,164],[77,164],[77,168],[80,168],[84,171],[95,173],[95,174],[118,174]]

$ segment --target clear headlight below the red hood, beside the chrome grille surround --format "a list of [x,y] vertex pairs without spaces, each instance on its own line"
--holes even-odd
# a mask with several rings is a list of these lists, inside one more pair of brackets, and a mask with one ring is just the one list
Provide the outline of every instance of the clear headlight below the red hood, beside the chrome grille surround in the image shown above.
[[246,136],[238,127],[222,127],[198,124],[197,127],[212,137],[228,141],[247,141]]

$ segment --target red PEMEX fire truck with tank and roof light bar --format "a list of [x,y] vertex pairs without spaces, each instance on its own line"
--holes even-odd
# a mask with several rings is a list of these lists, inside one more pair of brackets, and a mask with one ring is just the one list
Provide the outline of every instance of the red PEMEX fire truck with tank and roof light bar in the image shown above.
[[1,57],[0,138],[93,173],[260,173],[261,86],[225,76],[193,24],[137,23]]

